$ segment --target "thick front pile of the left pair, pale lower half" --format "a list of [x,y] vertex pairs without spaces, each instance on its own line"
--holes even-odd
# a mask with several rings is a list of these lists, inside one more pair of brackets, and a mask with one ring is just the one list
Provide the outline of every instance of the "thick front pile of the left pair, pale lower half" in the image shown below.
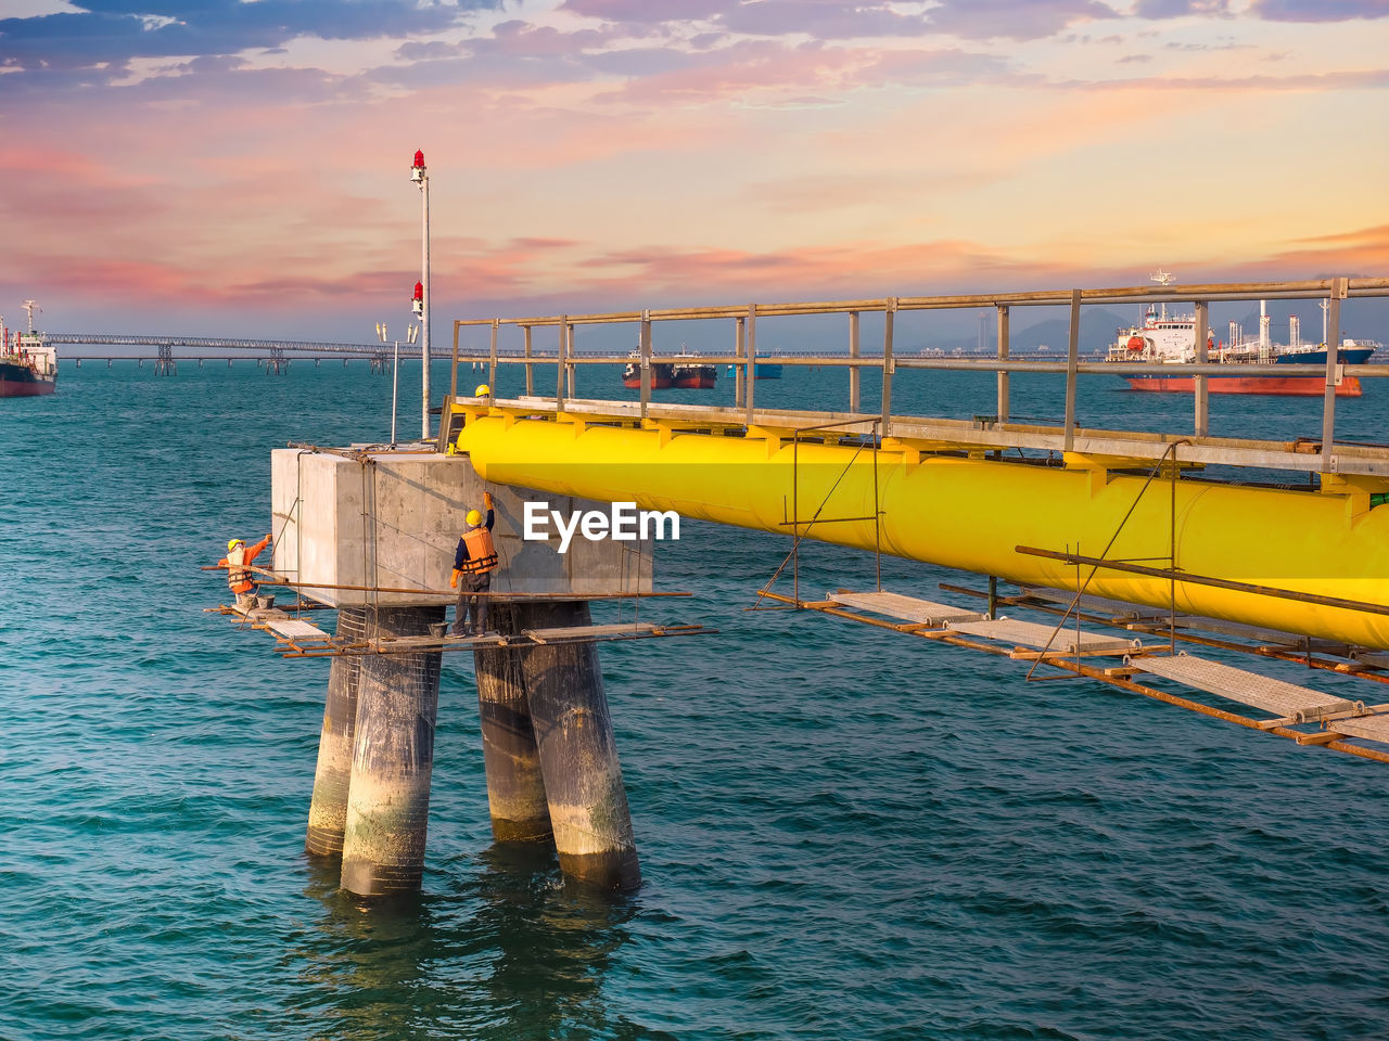
[[[442,607],[365,608],[367,636],[426,636]],[[342,887],[379,897],[419,887],[429,823],[439,651],[361,658]]]

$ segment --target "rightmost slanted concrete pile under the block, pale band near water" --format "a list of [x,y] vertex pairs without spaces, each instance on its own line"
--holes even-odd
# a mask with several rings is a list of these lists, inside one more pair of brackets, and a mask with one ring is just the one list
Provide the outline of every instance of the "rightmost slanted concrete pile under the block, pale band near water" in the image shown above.
[[[524,629],[590,625],[585,601],[518,611]],[[642,872],[597,647],[543,644],[526,650],[522,665],[560,869],[604,888],[635,890]]]

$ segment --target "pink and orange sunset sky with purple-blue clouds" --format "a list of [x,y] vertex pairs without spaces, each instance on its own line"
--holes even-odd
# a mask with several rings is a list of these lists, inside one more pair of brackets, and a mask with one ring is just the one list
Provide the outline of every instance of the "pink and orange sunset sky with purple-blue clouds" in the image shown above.
[[[0,0],[0,315],[1389,273],[1389,0]],[[436,339],[438,341],[438,339]]]

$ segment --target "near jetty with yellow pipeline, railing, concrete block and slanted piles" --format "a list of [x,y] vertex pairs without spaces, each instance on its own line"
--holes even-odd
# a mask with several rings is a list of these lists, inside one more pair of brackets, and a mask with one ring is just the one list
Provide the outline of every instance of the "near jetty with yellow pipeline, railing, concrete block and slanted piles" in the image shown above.
[[[1214,436],[1207,380],[1229,366],[1204,353],[1211,301],[1328,300],[1326,340],[1338,344],[1342,301],[1386,296],[1389,278],[1336,278],[456,322],[438,439],[276,450],[274,564],[264,577],[296,600],[218,608],[274,636],[286,657],[332,659],[310,854],[340,858],[343,888],[363,897],[419,884],[440,655],[471,651],[494,840],[553,843],[574,879],[638,884],[597,647],[711,630],[665,618],[690,601],[654,600],[660,536],[617,537],[617,504],[788,536],[782,565],[764,583],[749,582],[749,607],[970,650],[981,668],[993,655],[1018,663],[1028,680],[1085,677],[1300,747],[1389,763],[1389,444],[1338,436],[1345,365],[1335,350],[1325,365],[1240,365],[1249,375],[1314,380],[1320,436]],[[1082,308],[1149,301],[1195,307],[1196,359],[1163,366],[1195,380],[1189,432],[1145,430],[1138,407],[1129,429],[1082,426],[1079,380],[1150,369],[1082,361]],[[1011,357],[1010,314],[1056,304],[1071,314],[1065,357]],[[895,350],[901,312],[964,307],[996,311],[996,357]],[[882,318],[882,347],[870,353],[860,316],[872,312]],[[793,315],[842,322],[847,354],[758,353],[758,330]],[[651,328],[667,321],[726,323],[732,350],[699,361],[733,366],[731,400],[653,400]],[[629,326],[635,358],[578,354],[574,330],[593,325]],[[461,348],[469,326],[488,330],[485,353]],[[499,341],[517,328],[519,355]],[[554,336],[553,355],[533,350],[538,329]],[[760,362],[842,366],[847,408],[760,405]],[[460,393],[460,372],[479,364],[489,386],[497,366],[525,366],[526,394]],[[636,400],[578,394],[581,366],[613,364],[640,369]],[[893,382],[906,369],[978,372],[992,384],[995,412],[895,412]],[[1015,418],[1015,372],[1064,376],[1060,422]],[[861,407],[865,373],[881,380],[881,408]],[[1367,391],[1375,394],[1389,365],[1358,365],[1356,375],[1378,384]],[[542,379],[553,394],[538,393]],[[467,514],[485,508],[483,493],[496,505],[499,561],[479,594],[492,604],[488,632],[450,634],[453,548]],[[568,552],[554,526],[532,537],[528,518],[538,511],[582,537]],[[811,543],[867,552],[836,554],[840,584],[807,590],[800,557]],[[731,552],[720,540],[703,555],[711,570],[736,576],[746,568]],[[960,577],[885,589],[883,555]],[[603,600],[629,605],[631,615],[593,625],[589,602]],[[333,633],[318,625],[331,612]],[[824,638],[843,637],[826,630]],[[903,655],[893,675],[904,693],[928,698],[929,665],[918,666],[914,684],[914,661]],[[725,661],[724,672],[736,675],[736,662]],[[678,688],[681,677],[668,682]],[[1065,697],[1067,687],[1053,690]],[[774,701],[782,691],[767,694]],[[846,712],[853,694],[845,693]],[[999,711],[1025,709],[1000,698]],[[1231,741],[1231,754],[1239,747]]]

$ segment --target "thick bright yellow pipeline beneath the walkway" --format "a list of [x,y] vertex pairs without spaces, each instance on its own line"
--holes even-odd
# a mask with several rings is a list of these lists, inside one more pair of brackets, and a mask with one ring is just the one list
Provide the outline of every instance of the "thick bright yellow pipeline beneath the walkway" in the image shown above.
[[[878,452],[836,444],[793,450],[775,432],[724,437],[669,429],[585,426],[468,415],[457,447],[485,480],[644,509],[788,533],[820,511],[808,536],[874,548],[874,475],[883,552],[946,568],[997,575],[1032,586],[1076,587],[1076,568],[1018,554],[1015,547],[1099,557],[1125,514],[1111,559],[1165,568],[1172,490],[1101,468],[1042,468],[1020,462],[921,455],[897,446]],[[754,430],[753,434],[760,432]],[[889,446],[893,443],[889,441]],[[1333,477],[1343,494],[1178,480],[1175,543],[1179,568],[1201,576],[1372,604],[1389,604],[1389,507],[1370,508],[1364,489]],[[793,512],[793,496],[796,509]],[[1135,500],[1138,501],[1135,507]],[[1142,559],[1147,558],[1147,559]],[[711,566],[726,566],[711,557]],[[1082,577],[1089,569],[1082,572]],[[846,573],[845,583],[853,576]],[[1165,608],[1171,583],[1101,570],[1088,591]],[[1389,616],[1300,604],[1208,586],[1176,584],[1178,612],[1389,648]]]

